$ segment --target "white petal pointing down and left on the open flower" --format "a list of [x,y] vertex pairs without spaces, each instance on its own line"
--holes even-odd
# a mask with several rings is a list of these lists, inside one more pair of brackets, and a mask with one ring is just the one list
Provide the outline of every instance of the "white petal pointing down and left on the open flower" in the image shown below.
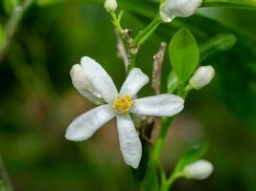
[[75,118],[68,126],[65,138],[81,141],[92,137],[108,120],[115,117],[115,113],[109,105],[96,107],[81,116]]

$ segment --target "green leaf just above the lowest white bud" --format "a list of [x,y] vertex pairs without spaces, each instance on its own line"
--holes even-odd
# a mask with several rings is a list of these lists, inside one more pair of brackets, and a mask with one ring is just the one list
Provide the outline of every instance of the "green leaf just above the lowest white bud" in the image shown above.
[[177,162],[175,172],[181,172],[187,164],[190,164],[198,159],[201,159],[205,152],[207,151],[207,149],[207,143],[192,146]]

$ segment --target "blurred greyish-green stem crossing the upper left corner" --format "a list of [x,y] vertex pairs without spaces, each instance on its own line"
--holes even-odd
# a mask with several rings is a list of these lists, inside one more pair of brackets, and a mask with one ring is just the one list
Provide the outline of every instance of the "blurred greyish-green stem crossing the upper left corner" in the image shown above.
[[12,15],[6,24],[4,45],[0,47],[0,61],[3,60],[12,43],[12,38],[23,17],[25,11],[31,6],[33,0],[26,0],[22,5],[18,4],[12,11]]

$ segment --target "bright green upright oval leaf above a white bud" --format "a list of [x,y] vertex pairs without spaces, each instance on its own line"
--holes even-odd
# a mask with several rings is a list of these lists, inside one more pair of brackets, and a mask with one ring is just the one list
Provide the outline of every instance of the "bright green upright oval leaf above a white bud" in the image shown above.
[[169,57],[178,79],[186,81],[199,60],[198,44],[191,32],[181,29],[175,33],[169,45]]

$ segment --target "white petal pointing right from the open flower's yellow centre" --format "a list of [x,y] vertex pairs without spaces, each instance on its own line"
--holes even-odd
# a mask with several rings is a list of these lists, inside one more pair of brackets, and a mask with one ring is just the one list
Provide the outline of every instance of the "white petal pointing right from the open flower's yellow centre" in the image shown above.
[[135,100],[130,113],[155,117],[172,117],[184,107],[183,98],[175,95],[148,96]]

